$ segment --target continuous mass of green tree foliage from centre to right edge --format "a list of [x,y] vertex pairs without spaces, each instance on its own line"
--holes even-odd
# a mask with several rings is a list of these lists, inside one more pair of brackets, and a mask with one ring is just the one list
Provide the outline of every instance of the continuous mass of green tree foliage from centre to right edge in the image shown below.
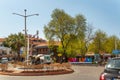
[[120,49],[120,40],[116,36],[108,37],[102,30],[93,33],[93,27],[87,25],[81,14],[71,17],[64,10],[55,9],[51,18],[44,26],[44,33],[51,47],[52,41],[61,43],[57,49],[60,53],[74,57],[84,56],[87,52],[112,53],[112,50]]

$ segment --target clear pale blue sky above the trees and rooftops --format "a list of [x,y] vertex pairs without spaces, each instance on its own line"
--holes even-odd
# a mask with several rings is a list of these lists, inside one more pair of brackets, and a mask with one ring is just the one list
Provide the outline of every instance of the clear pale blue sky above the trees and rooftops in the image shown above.
[[54,9],[63,9],[72,17],[82,14],[94,30],[102,30],[109,36],[120,37],[120,0],[0,0],[0,37],[24,33],[24,17],[13,15],[39,14],[27,17],[27,33],[36,34],[45,39],[44,25],[51,20]]

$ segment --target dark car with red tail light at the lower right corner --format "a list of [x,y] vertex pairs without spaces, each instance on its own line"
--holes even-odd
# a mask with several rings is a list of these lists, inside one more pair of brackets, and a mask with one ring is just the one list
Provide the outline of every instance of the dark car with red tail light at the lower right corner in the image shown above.
[[108,60],[99,80],[120,80],[120,57]]

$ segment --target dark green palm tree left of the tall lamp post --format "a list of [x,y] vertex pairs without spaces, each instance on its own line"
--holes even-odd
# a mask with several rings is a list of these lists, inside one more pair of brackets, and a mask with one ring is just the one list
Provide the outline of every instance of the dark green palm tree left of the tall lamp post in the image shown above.
[[6,47],[10,47],[13,51],[18,54],[18,59],[20,58],[20,49],[25,46],[25,37],[24,34],[11,34],[8,38],[5,39],[3,45]]

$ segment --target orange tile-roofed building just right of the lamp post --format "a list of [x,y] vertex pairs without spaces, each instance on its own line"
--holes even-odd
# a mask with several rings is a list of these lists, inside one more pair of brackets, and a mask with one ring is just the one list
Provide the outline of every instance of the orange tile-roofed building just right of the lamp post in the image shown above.
[[47,41],[41,38],[29,38],[30,55],[47,54],[49,52]]

